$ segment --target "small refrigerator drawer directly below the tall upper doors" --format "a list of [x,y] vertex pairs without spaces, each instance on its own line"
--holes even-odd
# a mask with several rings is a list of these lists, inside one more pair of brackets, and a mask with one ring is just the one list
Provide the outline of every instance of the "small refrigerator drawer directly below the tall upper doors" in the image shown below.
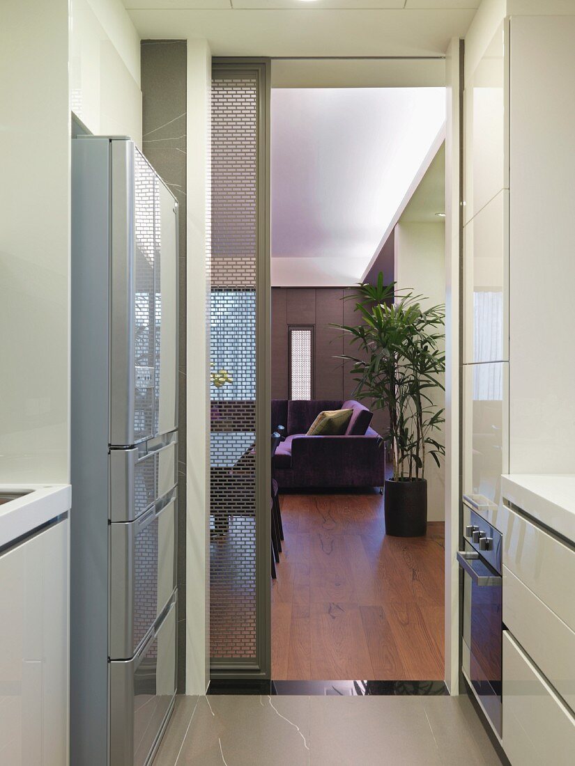
[[176,431],[131,450],[110,450],[110,521],[137,519],[177,482]]

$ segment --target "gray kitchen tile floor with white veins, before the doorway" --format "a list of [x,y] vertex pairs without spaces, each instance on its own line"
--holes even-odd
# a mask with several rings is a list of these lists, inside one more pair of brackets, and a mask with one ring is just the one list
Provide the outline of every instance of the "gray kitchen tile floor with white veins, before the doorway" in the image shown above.
[[153,766],[498,766],[466,696],[176,699]]

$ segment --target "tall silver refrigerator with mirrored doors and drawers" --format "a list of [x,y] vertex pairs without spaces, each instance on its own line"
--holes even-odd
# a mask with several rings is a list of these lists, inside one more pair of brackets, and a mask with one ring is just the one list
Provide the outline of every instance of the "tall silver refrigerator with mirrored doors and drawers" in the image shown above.
[[72,139],[71,764],[149,763],[176,693],[178,207]]

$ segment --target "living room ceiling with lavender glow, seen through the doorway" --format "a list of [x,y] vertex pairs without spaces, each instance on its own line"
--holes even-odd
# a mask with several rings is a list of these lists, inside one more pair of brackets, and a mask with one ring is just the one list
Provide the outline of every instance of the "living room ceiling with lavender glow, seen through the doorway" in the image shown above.
[[443,88],[272,90],[272,283],[359,281],[444,121]]

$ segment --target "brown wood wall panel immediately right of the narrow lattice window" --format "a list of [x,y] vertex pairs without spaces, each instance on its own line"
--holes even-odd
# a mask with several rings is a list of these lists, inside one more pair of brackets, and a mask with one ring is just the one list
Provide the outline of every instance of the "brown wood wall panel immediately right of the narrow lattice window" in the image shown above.
[[324,287],[315,291],[315,398],[343,399],[343,353],[341,330],[331,322],[343,322],[343,289]]

